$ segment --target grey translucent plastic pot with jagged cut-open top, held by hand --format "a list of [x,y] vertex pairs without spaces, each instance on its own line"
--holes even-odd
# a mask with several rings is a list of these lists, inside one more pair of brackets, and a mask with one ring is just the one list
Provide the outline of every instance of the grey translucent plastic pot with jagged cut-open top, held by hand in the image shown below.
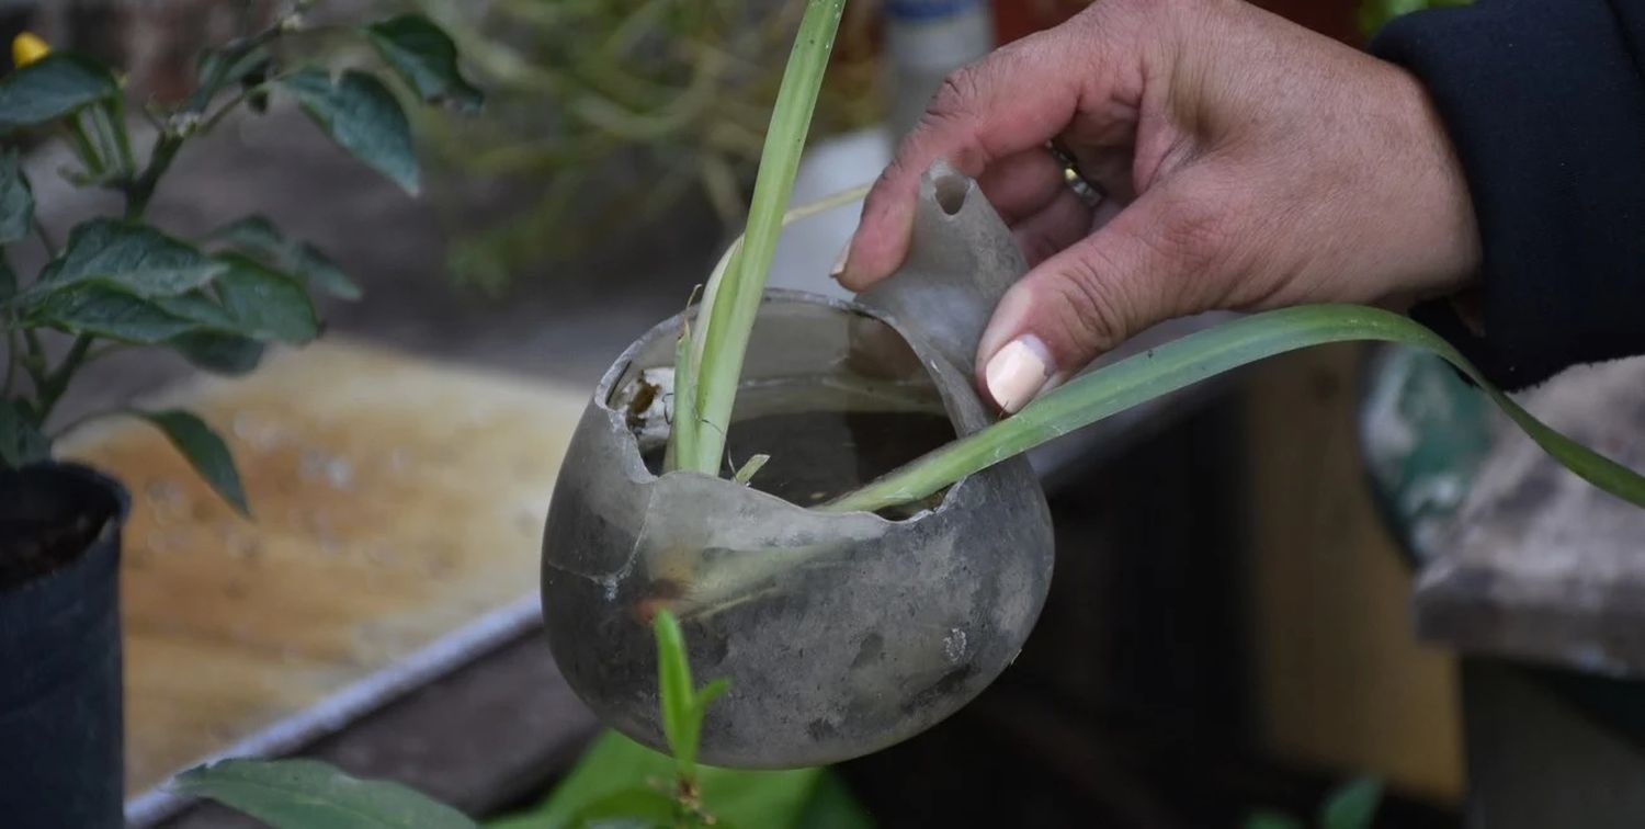
[[[767,294],[745,388],[869,378],[850,408],[929,401],[969,434],[992,419],[972,390],[975,342],[1022,271],[972,183],[934,169],[908,265],[862,298],[873,306]],[[543,614],[571,688],[609,725],[665,748],[650,618],[666,607],[699,681],[730,679],[704,724],[707,763],[847,760],[975,697],[1020,651],[1051,581],[1051,520],[1028,464],[962,479],[903,520],[808,510],[696,472],[655,475],[627,401],[645,370],[673,365],[678,332],[679,317],[661,322],[605,373],[554,487]],[[732,436],[737,421],[808,400],[745,393]],[[793,436],[796,451],[806,439]],[[780,456],[783,442],[762,451]]]

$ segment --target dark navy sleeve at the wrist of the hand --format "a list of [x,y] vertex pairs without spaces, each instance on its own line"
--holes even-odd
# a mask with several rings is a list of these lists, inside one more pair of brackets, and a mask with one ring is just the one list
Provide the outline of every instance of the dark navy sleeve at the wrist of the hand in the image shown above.
[[1413,316],[1507,388],[1645,354],[1645,0],[1479,0],[1370,49],[1428,87],[1484,242],[1484,336]]

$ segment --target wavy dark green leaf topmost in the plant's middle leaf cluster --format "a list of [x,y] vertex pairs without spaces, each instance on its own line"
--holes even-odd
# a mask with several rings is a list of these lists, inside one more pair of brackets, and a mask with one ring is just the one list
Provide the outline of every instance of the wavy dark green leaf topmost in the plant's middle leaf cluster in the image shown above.
[[92,219],[69,232],[63,255],[39,273],[26,294],[41,296],[99,280],[143,298],[179,296],[209,283],[224,265],[194,245],[118,219]]

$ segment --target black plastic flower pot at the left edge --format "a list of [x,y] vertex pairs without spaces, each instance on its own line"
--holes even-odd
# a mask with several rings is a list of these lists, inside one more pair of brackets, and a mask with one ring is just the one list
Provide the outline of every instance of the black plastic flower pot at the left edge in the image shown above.
[[0,824],[123,826],[120,526],[81,465],[0,470]]

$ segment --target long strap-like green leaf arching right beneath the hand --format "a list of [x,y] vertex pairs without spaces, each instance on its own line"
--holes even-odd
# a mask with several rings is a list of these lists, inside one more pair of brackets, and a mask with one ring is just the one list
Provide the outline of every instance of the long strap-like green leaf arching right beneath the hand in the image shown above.
[[1079,377],[1017,414],[936,449],[824,508],[880,510],[920,500],[972,472],[1207,377],[1277,354],[1349,340],[1400,342],[1438,354],[1479,383],[1520,429],[1566,469],[1645,507],[1645,477],[1533,418],[1433,331],[1392,311],[1323,304],[1235,319]]

